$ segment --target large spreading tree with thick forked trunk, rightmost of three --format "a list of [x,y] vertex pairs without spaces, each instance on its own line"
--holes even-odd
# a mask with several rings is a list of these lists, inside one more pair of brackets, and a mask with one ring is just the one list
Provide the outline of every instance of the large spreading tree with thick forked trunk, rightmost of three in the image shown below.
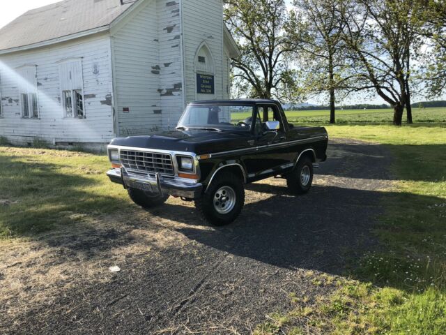
[[393,124],[401,126],[404,107],[410,101],[410,55],[422,44],[417,36],[424,25],[423,3],[418,0],[357,0],[356,3],[342,13],[346,45],[359,80],[355,90],[376,90],[394,108]]

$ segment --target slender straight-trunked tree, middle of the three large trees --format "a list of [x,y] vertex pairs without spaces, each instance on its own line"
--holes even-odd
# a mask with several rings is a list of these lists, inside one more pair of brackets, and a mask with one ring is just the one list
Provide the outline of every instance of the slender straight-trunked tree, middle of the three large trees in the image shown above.
[[314,93],[328,92],[330,96],[330,124],[335,123],[335,92],[348,86],[351,78],[343,57],[344,23],[339,20],[339,0],[295,0],[297,15],[293,31],[296,52],[305,59],[307,81],[305,87]]

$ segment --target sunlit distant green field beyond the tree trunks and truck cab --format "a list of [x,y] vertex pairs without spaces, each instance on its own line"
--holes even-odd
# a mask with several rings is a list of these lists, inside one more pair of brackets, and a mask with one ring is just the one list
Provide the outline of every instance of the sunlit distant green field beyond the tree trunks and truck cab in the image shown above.
[[[233,121],[240,121],[250,117],[247,113],[233,113]],[[330,119],[329,110],[287,111],[286,117],[295,124],[325,124]],[[377,124],[392,122],[393,110],[337,110],[338,124]],[[443,108],[414,108],[415,122],[446,122],[446,107]]]

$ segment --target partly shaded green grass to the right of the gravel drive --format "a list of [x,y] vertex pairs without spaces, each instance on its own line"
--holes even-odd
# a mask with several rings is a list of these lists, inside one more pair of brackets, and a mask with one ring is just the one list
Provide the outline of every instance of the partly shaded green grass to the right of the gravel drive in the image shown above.
[[[268,321],[256,333],[445,334],[446,125],[326,128],[330,137],[385,144],[395,157],[393,189],[383,193],[385,213],[375,230],[380,248],[357,260],[351,279],[339,278],[332,295],[312,304],[292,298],[286,325]],[[312,313],[302,315],[305,308]]]

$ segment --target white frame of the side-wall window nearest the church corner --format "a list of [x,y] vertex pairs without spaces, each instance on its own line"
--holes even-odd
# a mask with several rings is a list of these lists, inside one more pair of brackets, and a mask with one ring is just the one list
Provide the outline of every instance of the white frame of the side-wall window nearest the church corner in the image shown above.
[[[68,59],[62,59],[61,61],[58,61],[59,63],[59,80],[60,80],[60,87],[61,87],[61,107],[63,112],[63,118],[64,119],[86,119],[86,106],[85,106],[85,98],[84,98],[84,64],[82,64],[82,57],[79,58],[68,58]],[[66,87],[63,85],[62,82],[62,72],[61,72],[61,65],[63,64],[70,64],[70,63],[79,63],[80,64],[80,81],[82,82],[82,87]],[[71,73],[70,73],[70,79],[71,79]],[[82,115],[79,115],[79,112],[77,110],[77,101],[76,101],[76,93],[80,91],[80,96],[82,99]],[[71,115],[67,113],[67,101],[66,101],[66,95],[65,92],[70,92],[70,98],[71,98]]]

